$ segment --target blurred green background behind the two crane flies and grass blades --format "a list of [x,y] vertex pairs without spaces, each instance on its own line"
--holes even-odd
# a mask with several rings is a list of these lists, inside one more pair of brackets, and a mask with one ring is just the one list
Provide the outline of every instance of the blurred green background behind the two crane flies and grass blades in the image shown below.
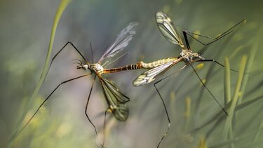
[[[43,68],[55,11],[60,1],[0,1],[0,147],[7,147],[8,137],[32,95]],[[170,56],[178,56],[178,46],[168,43],[156,27],[154,13],[165,11],[173,19],[182,36],[182,29],[205,36],[217,36],[243,18],[247,23],[237,32],[209,46],[203,55],[224,63],[230,60],[233,69],[239,69],[241,57],[247,55],[259,42],[252,59],[243,102],[262,95],[263,69],[262,1],[72,1],[59,22],[53,46],[53,55],[72,41],[81,53],[92,62],[89,44],[92,43],[97,61],[107,46],[129,22],[139,22],[137,34],[126,51],[128,56],[111,67],[129,65],[140,60],[151,62]],[[202,46],[189,39],[193,51]],[[207,39],[202,39],[209,42]],[[257,47],[255,47],[257,48]],[[50,68],[38,97],[27,119],[41,102],[61,82],[85,72],[76,69],[73,59],[81,59],[68,46]],[[251,60],[251,59],[250,59]],[[194,64],[196,67],[197,64]],[[183,63],[163,74],[176,72]],[[130,116],[124,123],[107,116],[106,147],[156,147],[166,131],[168,121],[163,105],[152,84],[135,88],[132,81],[144,70],[109,74],[121,91],[130,97]],[[217,100],[224,105],[224,68],[205,63],[197,70]],[[187,78],[186,78],[187,77]],[[160,79],[160,78],[159,78]],[[231,72],[231,97],[238,74]],[[102,142],[103,112],[106,103],[100,84],[95,83],[88,114],[100,130],[95,136],[93,127],[86,119],[84,109],[91,77],[67,83],[50,97],[29,126],[18,135],[11,147],[100,147]],[[168,107],[171,128],[161,147],[263,147],[263,101],[246,105],[234,116],[233,133],[222,137],[222,122],[189,133],[220,112],[213,97],[201,86],[191,67],[165,79],[157,85]],[[203,143],[202,143],[203,141]]]

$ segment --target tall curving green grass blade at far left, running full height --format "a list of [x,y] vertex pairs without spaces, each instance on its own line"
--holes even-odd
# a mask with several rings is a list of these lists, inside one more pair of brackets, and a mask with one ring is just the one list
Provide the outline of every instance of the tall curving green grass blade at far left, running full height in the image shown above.
[[25,116],[27,115],[27,112],[32,107],[33,100],[36,98],[36,95],[39,93],[39,90],[40,90],[43,82],[46,79],[46,76],[47,76],[48,70],[49,70],[49,63],[50,63],[50,57],[51,57],[51,53],[52,53],[52,49],[53,49],[53,43],[54,43],[54,39],[55,39],[55,31],[58,27],[58,22],[61,18],[62,13],[65,11],[65,8],[67,8],[67,6],[70,4],[71,1],[72,0],[60,1],[60,5],[58,6],[58,9],[57,9],[57,12],[55,13],[55,18],[53,21],[53,27],[52,27],[52,31],[50,34],[50,42],[49,42],[49,46],[48,46],[48,53],[46,55],[45,65],[43,67],[40,79],[39,79],[38,83],[36,84],[36,88],[34,89],[34,92],[32,93],[32,96],[29,98],[28,103],[25,107],[25,112],[23,112],[22,116],[18,120],[18,123],[15,126],[15,130],[13,130],[13,133],[12,133],[11,137],[9,138],[8,147],[11,147],[13,140],[15,140],[15,137],[17,136],[18,130],[19,130],[20,126],[22,125],[22,122],[25,120]]

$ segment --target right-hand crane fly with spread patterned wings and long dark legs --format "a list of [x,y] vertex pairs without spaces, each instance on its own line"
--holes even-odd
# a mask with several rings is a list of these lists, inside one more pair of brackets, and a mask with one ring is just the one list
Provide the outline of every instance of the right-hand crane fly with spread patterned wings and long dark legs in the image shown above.
[[[195,39],[199,43],[203,44],[203,46],[208,46],[211,43],[221,39],[224,36],[226,36],[227,34],[230,34],[231,32],[234,32],[234,27],[240,25],[241,22],[245,22],[245,19],[241,20],[241,22],[238,22],[236,25],[234,25],[234,27],[231,27],[226,32],[224,32],[223,34],[221,34],[220,36],[217,36],[215,38],[210,38],[208,36],[203,36],[203,35],[200,35],[200,34],[195,34],[195,33],[192,33],[192,32],[188,32],[187,30],[184,30],[184,31],[182,31],[183,35],[184,35],[184,41],[186,43],[186,46],[184,46],[184,43],[182,42],[182,39],[180,38],[180,36],[179,36],[179,34],[177,32],[177,29],[175,29],[175,27],[173,25],[173,21],[170,19],[170,17],[166,13],[163,13],[162,11],[156,12],[155,18],[156,18],[156,23],[157,23],[157,26],[159,27],[159,30],[160,30],[161,34],[163,34],[163,36],[166,38],[166,40],[168,42],[173,43],[175,45],[179,45],[180,48],[181,48],[181,53],[180,53],[180,56],[178,56],[176,58],[173,58],[173,60],[169,60],[169,61],[167,60],[166,62],[161,62],[160,60],[157,60],[155,63],[162,63],[162,64],[157,65],[156,67],[152,67],[147,72],[144,72],[144,73],[140,74],[140,76],[138,76],[133,81],[133,86],[142,86],[144,84],[151,83],[152,81],[154,81],[156,79],[156,76],[159,76],[159,75],[163,74],[170,67],[173,67],[173,65],[176,65],[179,62],[184,62],[185,63],[185,65],[181,69],[184,69],[185,67],[190,65],[192,67],[192,69],[194,70],[196,76],[198,76],[198,74],[197,74],[196,70],[194,69],[194,67],[191,65],[191,63],[193,63],[193,62],[215,62],[217,65],[220,65],[220,66],[224,67],[224,65],[220,64],[220,62],[217,62],[216,60],[207,60],[207,59],[205,59],[205,58],[203,58],[201,56],[203,54],[203,52],[205,52],[205,50],[207,48],[203,48],[203,50],[201,50],[200,53],[194,53],[194,51],[191,51],[191,48],[190,48],[190,45],[189,45],[189,41],[187,39],[187,35],[191,36],[193,39]],[[197,36],[205,37],[205,38],[208,38],[208,39],[213,39],[213,41],[211,41],[210,43],[203,43],[203,42],[199,41],[198,39],[196,39],[192,35],[197,35]],[[147,67],[147,65],[144,65],[144,67]],[[231,69],[231,70],[236,72],[236,70],[234,70],[234,69]],[[173,74],[175,74],[175,73],[173,73]],[[172,75],[172,74],[170,74],[170,75]],[[168,78],[168,76],[166,76],[163,79],[166,79],[166,78]],[[156,88],[156,84],[159,83],[160,81],[162,81],[163,79],[161,79],[161,80],[157,81],[156,83],[154,83],[154,87]],[[224,111],[224,113],[227,114],[227,112],[225,111],[224,107],[222,107],[222,105],[220,105],[220,102],[217,101],[215,96],[205,86],[205,83],[203,83],[203,81],[201,80],[200,76],[198,76],[198,79],[201,81],[201,83],[203,84],[205,89],[208,90],[210,95],[212,95],[213,99],[215,100],[215,102],[217,102],[217,104]],[[161,93],[159,93],[159,90],[157,88],[156,88],[156,91],[159,94],[159,97],[161,97]],[[162,97],[161,97],[161,100],[163,101]],[[164,102],[163,102],[163,105],[164,105],[164,108],[166,109],[166,105],[165,105]],[[168,117],[168,130],[169,130],[169,128],[170,128],[170,118],[168,116],[167,109],[166,109],[166,116]],[[166,133],[168,133],[168,130],[166,130]],[[166,136],[166,133],[161,138],[161,141]],[[158,147],[161,144],[161,141],[159,142]]]

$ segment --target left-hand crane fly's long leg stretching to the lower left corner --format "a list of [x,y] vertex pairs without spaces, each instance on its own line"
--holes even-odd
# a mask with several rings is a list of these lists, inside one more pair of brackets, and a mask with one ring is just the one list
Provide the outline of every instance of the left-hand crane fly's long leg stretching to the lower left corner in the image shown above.
[[[36,113],[39,112],[39,109],[43,106],[43,104],[44,104],[44,103],[48,100],[48,98],[55,92],[55,90],[57,90],[60,86],[62,86],[63,83],[67,83],[67,82],[69,82],[69,81],[73,81],[73,80],[82,78],[82,77],[84,77],[84,76],[89,76],[89,75],[90,75],[90,74],[85,74],[85,75],[78,76],[78,77],[76,77],[76,78],[69,79],[69,80],[67,80],[67,81],[61,82],[61,83],[48,95],[48,97],[46,97],[46,100],[44,100],[44,101],[41,103],[41,105],[39,106],[39,108],[36,109],[36,112],[34,112],[33,116],[31,116],[31,118],[27,121],[27,123],[25,123],[25,126],[23,126],[23,127],[21,128],[21,130],[18,131],[18,134],[21,133],[22,130],[25,129],[25,127],[27,127],[27,125],[30,123],[30,121],[32,121],[32,119],[34,118],[34,116],[36,115]],[[18,135],[18,134],[17,134],[17,135]]]

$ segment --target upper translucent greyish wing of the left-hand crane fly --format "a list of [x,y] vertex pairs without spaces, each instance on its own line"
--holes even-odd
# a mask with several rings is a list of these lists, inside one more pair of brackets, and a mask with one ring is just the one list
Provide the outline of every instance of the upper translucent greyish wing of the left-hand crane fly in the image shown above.
[[116,53],[119,53],[119,51],[122,51],[123,48],[128,46],[130,40],[133,39],[133,34],[136,33],[135,28],[137,25],[137,22],[130,22],[126,28],[122,29],[114,43],[112,43],[112,45],[107,48],[107,51],[102,55],[98,63],[101,63],[104,58],[116,55]]

